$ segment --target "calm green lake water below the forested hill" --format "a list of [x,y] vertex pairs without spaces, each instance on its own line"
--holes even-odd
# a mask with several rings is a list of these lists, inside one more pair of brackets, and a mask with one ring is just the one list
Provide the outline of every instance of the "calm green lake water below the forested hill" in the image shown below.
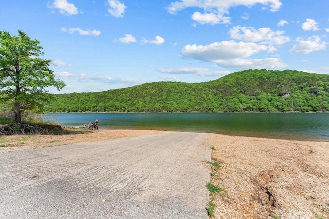
[[47,113],[61,125],[99,120],[100,129],[156,129],[329,141],[328,113]]

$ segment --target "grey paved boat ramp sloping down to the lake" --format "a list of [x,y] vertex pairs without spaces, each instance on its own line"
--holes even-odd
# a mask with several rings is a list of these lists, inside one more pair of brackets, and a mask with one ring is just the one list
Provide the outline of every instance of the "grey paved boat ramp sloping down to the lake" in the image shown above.
[[0,148],[0,218],[208,218],[207,137]]

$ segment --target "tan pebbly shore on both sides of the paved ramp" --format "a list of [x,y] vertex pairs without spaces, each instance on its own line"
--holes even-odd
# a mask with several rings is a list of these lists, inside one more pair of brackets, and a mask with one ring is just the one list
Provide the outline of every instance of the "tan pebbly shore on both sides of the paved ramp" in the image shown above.
[[[0,137],[5,150],[154,135],[156,130],[97,130],[69,135]],[[208,134],[222,167],[211,182],[216,218],[329,218],[329,142]]]

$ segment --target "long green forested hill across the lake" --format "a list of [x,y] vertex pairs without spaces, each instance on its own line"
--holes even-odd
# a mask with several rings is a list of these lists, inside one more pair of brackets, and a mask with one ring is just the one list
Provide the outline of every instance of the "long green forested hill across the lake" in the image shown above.
[[155,82],[57,94],[47,112],[329,111],[329,75],[246,70],[205,83]]

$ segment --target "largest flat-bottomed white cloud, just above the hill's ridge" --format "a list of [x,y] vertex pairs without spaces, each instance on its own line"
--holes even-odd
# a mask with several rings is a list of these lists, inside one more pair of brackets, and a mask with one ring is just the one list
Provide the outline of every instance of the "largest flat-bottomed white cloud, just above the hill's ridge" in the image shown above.
[[181,53],[188,58],[215,63],[227,68],[281,68],[286,66],[279,58],[248,58],[262,51],[272,52],[273,47],[255,43],[222,41],[206,46],[186,45]]

